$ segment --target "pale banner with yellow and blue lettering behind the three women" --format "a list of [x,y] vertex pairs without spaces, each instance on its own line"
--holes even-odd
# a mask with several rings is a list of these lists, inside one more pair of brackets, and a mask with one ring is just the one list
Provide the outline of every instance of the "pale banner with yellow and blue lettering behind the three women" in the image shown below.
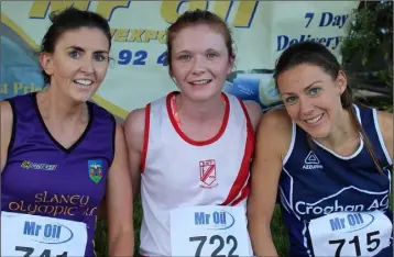
[[317,41],[340,58],[349,14],[358,1],[1,1],[0,100],[43,86],[36,51],[52,11],[74,5],[102,14],[113,36],[113,62],[94,96],[121,120],[176,86],[166,66],[165,31],[184,11],[206,9],[223,18],[236,42],[236,68],[223,91],[281,104],[272,81],[276,58],[291,44]]

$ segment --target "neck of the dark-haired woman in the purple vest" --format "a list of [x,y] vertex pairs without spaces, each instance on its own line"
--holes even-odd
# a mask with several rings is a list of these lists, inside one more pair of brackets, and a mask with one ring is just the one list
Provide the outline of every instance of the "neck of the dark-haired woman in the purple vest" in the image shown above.
[[56,121],[58,124],[79,120],[86,110],[85,103],[76,103],[53,86],[42,92],[40,102],[44,112],[43,116]]

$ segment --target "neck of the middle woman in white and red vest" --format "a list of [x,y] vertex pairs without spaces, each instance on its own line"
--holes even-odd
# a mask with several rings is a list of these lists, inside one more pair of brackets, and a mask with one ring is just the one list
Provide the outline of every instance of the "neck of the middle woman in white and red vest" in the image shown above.
[[176,96],[176,104],[178,114],[182,116],[180,120],[183,120],[183,118],[187,118],[187,120],[201,123],[222,118],[226,110],[226,103],[221,93],[218,93],[207,101],[200,102],[193,101],[191,99],[179,93]]

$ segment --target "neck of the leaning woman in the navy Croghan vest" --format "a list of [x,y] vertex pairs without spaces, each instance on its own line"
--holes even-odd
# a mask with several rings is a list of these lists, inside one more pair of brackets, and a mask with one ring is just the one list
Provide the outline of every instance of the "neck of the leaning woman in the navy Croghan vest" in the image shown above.
[[341,109],[328,136],[316,141],[331,149],[337,149],[346,143],[359,139],[359,133],[350,115],[348,110]]

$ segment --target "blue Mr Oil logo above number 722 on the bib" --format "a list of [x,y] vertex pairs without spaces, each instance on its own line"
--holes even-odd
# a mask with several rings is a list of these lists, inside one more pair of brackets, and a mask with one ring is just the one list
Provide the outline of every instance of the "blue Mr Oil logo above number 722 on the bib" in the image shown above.
[[227,211],[195,212],[195,225],[207,230],[227,230],[234,223],[234,217]]

